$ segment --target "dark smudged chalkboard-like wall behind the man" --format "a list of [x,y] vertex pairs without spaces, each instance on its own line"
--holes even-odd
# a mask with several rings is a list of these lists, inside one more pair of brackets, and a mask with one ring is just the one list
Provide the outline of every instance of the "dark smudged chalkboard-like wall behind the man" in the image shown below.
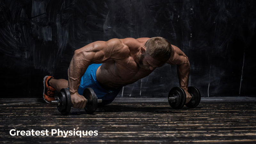
[[[162,36],[189,57],[204,96],[255,96],[255,2],[234,0],[1,0],[1,97],[41,97],[43,77],[67,79],[74,50],[111,38]],[[167,97],[176,66],[122,96]]]

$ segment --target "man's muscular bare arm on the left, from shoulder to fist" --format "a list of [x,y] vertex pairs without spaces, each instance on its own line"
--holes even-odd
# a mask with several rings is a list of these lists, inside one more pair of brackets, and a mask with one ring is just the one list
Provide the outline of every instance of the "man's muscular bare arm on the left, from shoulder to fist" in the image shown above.
[[104,63],[116,59],[122,46],[119,39],[111,39],[107,42],[96,41],[75,50],[68,68],[68,89],[74,108],[84,108],[86,105],[85,98],[78,94],[78,87],[88,66],[92,63]]

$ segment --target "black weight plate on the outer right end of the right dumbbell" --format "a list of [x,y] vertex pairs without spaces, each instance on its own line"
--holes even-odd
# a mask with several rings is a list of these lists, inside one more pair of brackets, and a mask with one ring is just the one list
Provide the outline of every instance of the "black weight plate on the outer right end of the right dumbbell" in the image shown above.
[[188,87],[188,93],[192,94],[193,97],[192,99],[186,104],[188,108],[196,108],[196,106],[199,105],[201,101],[201,94],[200,91],[194,87],[194,86],[189,86]]

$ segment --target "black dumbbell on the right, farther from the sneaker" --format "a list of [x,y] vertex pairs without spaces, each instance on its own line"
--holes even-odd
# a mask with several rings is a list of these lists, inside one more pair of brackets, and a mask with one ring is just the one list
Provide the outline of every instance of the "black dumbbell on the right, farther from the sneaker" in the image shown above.
[[188,93],[191,95],[191,100],[186,104],[186,93],[180,87],[174,87],[168,94],[168,102],[174,109],[183,108],[186,105],[188,108],[196,108],[201,101],[200,91],[193,86],[188,87]]

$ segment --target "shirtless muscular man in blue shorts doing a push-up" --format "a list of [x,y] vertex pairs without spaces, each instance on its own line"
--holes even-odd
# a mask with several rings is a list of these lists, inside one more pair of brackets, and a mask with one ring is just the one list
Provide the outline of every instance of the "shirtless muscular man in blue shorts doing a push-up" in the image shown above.
[[82,96],[91,87],[102,104],[111,103],[121,88],[148,76],[165,63],[177,65],[180,87],[188,93],[188,57],[163,37],[113,38],[96,41],[75,50],[68,68],[68,80],[44,77],[44,100],[54,100],[53,93],[68,88],[74,108],[84,108]]

